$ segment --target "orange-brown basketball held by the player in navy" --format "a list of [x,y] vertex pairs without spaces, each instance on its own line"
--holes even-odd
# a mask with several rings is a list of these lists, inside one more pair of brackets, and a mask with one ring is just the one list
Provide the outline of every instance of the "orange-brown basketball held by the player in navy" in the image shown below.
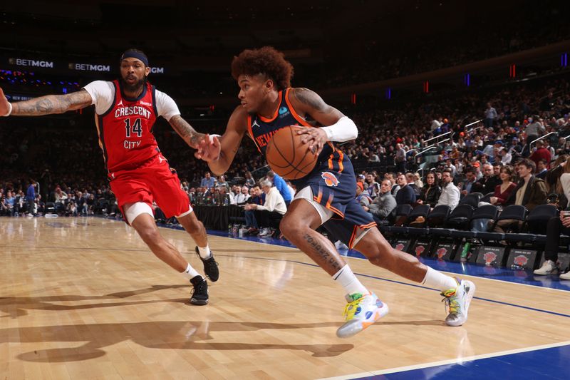
[[271,170],[287,180],[303,178],[316,165],[316,152],[303,143],[303,135],[297,135],[303,128],[297,125],[281,128],[269,140],[265,150]]

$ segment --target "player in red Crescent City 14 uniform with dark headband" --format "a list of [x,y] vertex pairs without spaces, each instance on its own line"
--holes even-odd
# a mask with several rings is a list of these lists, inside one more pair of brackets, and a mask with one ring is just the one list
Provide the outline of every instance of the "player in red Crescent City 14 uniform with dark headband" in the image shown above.
[[212,281],[219,277],[217,262],[209,250],[206,230],[197,220],[178,176],[170,170],[152,134],[162,116],[192,148],[209,143],[180,117],[176,103],[147,81],[148,58],[136,49],[120,58],[120,80],[94,81],[81,91],[42,96],[9,103],[0,88],[0,115],[36,116],[64,113],[95,105],[95,124],[103,150],[111,190],[125,220],[138,232],[150,250],[163,262],[190,278],[194,290],[191,304],[208,302],[207,282],[158,232],[152,213],[155,200],[167,217],[175,216],[197,244],[204,272]]

